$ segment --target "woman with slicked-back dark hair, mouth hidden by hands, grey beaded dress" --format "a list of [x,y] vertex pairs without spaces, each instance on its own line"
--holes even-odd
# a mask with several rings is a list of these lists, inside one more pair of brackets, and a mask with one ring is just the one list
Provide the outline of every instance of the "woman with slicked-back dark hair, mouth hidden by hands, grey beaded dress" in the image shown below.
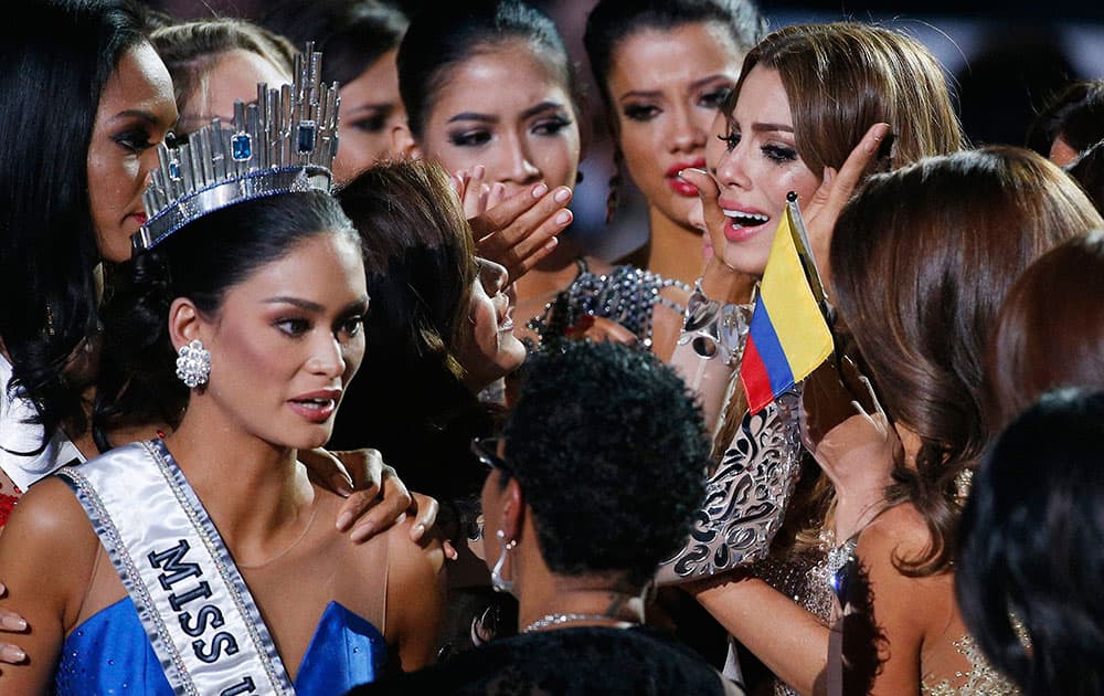
[[[399,151],[435,159],[453,172],[476,172],[465,191],[486,181],[489,200],[503,208],[546,196],[566,204],[582,152],[577,83],[555,24],[531,4],[497,0],[422,13],[399,48],[399,87],[410,120]],[[571,220],[561,211],[533,236],[559,233]],[[609,266],[570,239],[556,239],[523,276],[503,263],[517,291],[519,335],[539,344],[593,320],[609,338],[669,355],[686,293],[673,281]]]

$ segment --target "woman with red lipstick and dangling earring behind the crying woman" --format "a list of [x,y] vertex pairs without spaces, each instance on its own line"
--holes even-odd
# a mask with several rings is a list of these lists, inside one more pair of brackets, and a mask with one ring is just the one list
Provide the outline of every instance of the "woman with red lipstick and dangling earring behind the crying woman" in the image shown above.
[[623,173],[648,203],[647,241],[627,263],[689,285],[701,274],[709,235],[691,219],[698,189],[678,173],[705,166],[713,119],[765,33],[752,0],[602,0],[591,10],[584,45],[615,147],[607,214]]

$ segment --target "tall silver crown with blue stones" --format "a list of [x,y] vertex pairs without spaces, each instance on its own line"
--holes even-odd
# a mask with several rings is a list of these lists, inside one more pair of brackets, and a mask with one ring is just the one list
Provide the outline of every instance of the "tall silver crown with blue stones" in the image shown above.
[[338,151],[338,83],[319,84],[322,54],[307,42],[295,56],[291,84],[257,84],[257,101],[234,104],[234,123],[219,118],[158,146],[159,167],[142,194],[146,224],[131,236],[149,250],[203,215],[243,201],[309,190],[330,191]]

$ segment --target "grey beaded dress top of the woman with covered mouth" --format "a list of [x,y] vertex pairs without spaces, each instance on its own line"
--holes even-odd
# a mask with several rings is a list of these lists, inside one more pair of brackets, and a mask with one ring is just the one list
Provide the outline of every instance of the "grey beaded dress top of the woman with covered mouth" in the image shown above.
[[651,348],[651,313],[664,305],[682,314],[683,307],[662,296],[664,288],[678,287],[687,293],[690,286],[681,281],[664,278],[650,271],[635,266],[614,266],[609,273],[592,273],[583,259],[576,259],[578,274],[555,299],[544,307],[544,313],[527,325],[540,337],[541,345],[563,336],[567,327],[575,326],[584,315],[603,317],[620,324],[640,340],[644,348]]

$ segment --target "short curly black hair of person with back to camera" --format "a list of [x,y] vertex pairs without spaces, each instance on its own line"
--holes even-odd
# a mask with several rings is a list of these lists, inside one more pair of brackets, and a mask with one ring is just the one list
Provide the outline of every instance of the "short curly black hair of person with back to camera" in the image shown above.
[[535,352],[521,378],[505,458],[544,561],[643,587],[686,539],[704,495],[709,439],[697,401],[654,355],[612,342]]

